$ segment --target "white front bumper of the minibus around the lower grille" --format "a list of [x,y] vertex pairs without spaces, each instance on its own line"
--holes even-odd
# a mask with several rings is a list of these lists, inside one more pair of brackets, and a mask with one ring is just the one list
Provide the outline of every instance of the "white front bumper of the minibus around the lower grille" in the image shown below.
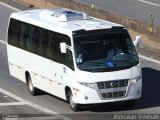
[[[124,89],[124,88],[123,88]],[[131,84],[128,82],[128,86],[126,87],[126,93],[122,97],[112,97],[112,98],[104,98],[102,96],[103,93],[120,91],[119,89],[110,89],[110,90],[100,90],[98,88],[97,83],[94,83],[94,88],[88,88],[83,86],[80,91],[73,91],[74,93],[74,102],[78,104],[96,104],[96,103],[107,103],[107,102],[118,102],[118,101],[126,101],[132,99],[141,98],[142,93],[142,80],[137,81],[135,84]]]

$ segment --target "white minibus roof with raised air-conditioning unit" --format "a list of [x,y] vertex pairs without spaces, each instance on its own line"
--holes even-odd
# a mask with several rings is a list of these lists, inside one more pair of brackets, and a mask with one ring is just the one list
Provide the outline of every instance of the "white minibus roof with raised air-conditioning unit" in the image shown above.
[[100,20],[88,16],[85,13],[70,10],[67,8],[58,9],[35,9],[12,13],[11,18],[18,19],[33,25],[47,29],[67,30],[97,30],[109,29],[112,27],[123,27],[122,25],[109,21]]

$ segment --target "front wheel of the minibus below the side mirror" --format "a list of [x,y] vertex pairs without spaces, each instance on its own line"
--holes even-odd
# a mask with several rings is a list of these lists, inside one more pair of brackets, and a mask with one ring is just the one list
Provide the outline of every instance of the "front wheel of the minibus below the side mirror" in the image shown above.
[[74,103],[74,101],[73,101],[73,94],[72,94],[71,91],[68,92],[68,102],[69,102],[69,104],[70,104],[71,109],[72,109],[74,112],[76,112],[76,111],[79,110],[79,106],[80,106],[80,105],[77,104],[77,103]]

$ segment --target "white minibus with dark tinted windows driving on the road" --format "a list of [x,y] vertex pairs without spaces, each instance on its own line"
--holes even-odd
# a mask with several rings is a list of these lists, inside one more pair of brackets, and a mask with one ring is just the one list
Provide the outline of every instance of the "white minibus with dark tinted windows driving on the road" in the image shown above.
[[[133,106],[142,93],[136,47],[119,24],[67,8],[12,13],[7,53],[10,74],[39,90],[83,104],[123,101]],[[135,43],[135,44],[134,44]]]

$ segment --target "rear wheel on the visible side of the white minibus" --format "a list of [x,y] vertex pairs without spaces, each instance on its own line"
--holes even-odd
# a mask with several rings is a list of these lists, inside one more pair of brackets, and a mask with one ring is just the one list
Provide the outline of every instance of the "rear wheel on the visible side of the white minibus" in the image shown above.
[[33,86],[32,79],[31,79],[30,75],[28,75],[28,88],[29,88],[31,95],[33,95],[33,96],[37,95],[38,90],[37,90],[37,88],[35,88]]

